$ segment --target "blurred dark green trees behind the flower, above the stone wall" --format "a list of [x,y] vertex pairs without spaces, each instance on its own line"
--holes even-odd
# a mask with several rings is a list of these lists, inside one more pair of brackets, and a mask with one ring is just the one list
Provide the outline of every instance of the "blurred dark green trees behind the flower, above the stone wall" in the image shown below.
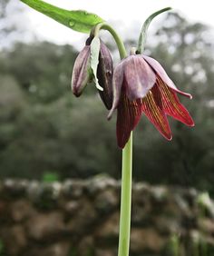
[[[65,2],[62,1],[62,6]],[[149,6],[149,11],[150,8],[151,12],[158,9],[155,5]],[[173,133],[169,143],[142,116],[134,133],[133,179],[163,187],[194,188],[205,192],[207,200],[214,197],[214,30],[208,21],[209,14],[198,11],[202,12],[199,20],[193,16],[189,19],[180,11],[156,18],[145,51],[160,61],[180,90],[193,95],[192,101],[181,97],[180,101],[190,111],[196,125],[190,129],[169,118]],[[99,8],[97,12],[100,15]],[[108,19],[108,14],[105,15]],[[142,15],[138,21],[134,18],[127,21],[127,17],[125,23],[120,20],[121,16],[115,20],[111,17],[112,25],[118,25],[125,38],[128,50],[136,45],[141,22],[146,16]],[[18,178],[64,182],[68,178],[90,179],[101,173],[108,175],[108,179],[121,178],[122,152],[116,144],[115,116],[107,122],[108,112],[92,84],[78,99],[70,89],[73,63],[86,38],[35,14],[21,2],[1,0],[2,181]],[[106,33],[102,34],[102,39],[117,62],[118,53],[112,39]],[[102,252],[101,255],[114,254]]]

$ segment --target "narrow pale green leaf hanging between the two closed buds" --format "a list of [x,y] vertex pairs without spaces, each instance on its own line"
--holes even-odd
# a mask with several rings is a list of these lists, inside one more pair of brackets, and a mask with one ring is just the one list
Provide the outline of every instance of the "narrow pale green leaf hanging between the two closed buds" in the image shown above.
[[92,44],[91,44],[91,67],[92,67],[92,73],[94,75],[94,82],[96,84],[96,87],[98,90],[103,91],[103,88],[98,83],[98,79],[97,79],[97,66],[99,64],[100,49],[101,49],[101,41],[98,36],[95,36],[92,39]]

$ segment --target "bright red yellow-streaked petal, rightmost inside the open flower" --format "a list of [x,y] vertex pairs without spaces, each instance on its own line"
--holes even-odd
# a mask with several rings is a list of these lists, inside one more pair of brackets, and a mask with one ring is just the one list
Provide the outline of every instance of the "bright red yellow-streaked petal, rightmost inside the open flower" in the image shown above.
[[182,123],[194,126],[190,113],[180,103],[177,94],[167,84],[164,84],[160,78],[157,79],[157,85],[161,94],[164,112]]

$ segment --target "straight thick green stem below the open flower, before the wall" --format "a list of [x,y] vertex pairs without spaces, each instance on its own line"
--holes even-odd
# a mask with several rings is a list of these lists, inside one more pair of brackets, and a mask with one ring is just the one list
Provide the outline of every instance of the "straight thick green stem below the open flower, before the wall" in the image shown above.
[[118,256],[128,256],[131,230],[132,132],[122,150],[122,195]]

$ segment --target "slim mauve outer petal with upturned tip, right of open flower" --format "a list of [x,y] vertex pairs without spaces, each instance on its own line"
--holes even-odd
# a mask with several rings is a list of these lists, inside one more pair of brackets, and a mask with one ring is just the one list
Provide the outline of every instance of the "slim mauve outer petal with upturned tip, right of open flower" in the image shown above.
[[160,65],[159,62],[157,62],[155,59],[142,55],[143,59],[151,65],[151,67],[156,71],[156,73],[160,76],[160,79],[167,84],[172,90],[174,90],[176,93],[179,93],[181,95],[184,95],[186,97],[189,97],[190,99],[192,98],[191,94],[186,94],[182,91],[180,91],[175,84],[170,80],[170,77],[168,74],[166,74],[165,70],[163,67]]

